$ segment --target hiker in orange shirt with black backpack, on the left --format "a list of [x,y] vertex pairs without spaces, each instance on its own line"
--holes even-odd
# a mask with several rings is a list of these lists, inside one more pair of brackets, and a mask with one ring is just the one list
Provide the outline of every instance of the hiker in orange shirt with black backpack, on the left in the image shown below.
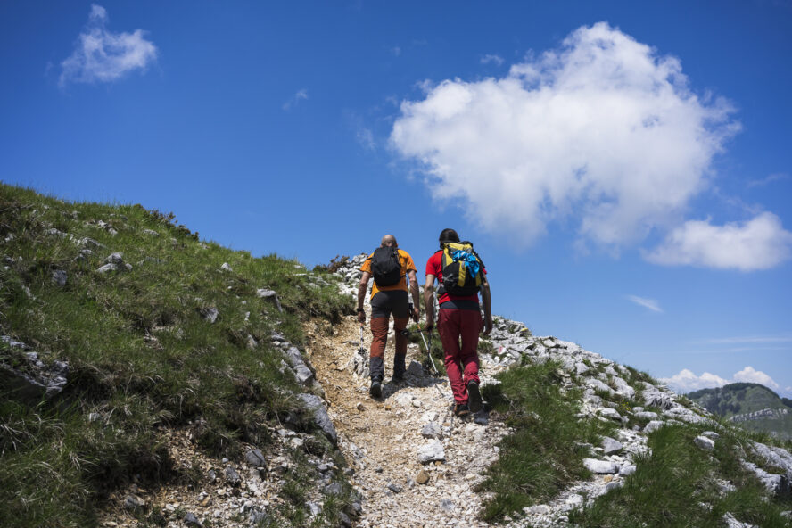
[[[363,276],[358,285],[358,322],[362,326],[366,322],[363,300],[366,297],[368,280],[374,276],[371,287],[371,355],[369,372],[371,387],[369,393],[373,398],[383,395],[385,344],[388,341],[388,321],[393,315],[393,327],[396,330],[396,353],[393,355],[392,381],[400,382],[404,378],[405,359],[407,357],[407,337],[401,331],[407,327],[409,318],[418,320],[418,281],[416,265],[408,252],[399,249],[396,237],[384,235],[380,247],[368,255],[360,267]],[[407,280],[412,293],[414,306],[409,311]]]

